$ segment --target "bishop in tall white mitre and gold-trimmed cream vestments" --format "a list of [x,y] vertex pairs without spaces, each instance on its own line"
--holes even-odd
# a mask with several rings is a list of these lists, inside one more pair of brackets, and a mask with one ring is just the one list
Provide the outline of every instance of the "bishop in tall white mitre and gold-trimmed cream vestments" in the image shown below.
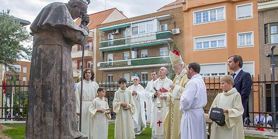
[[186,66],[179,51],[174,50],[174,53],[170,52],[169,55],[176,76],[170,86],[169,93],[163,97],[169,105],[169,111],[164,122],[165,139],[180,139],[180,120],[183,112],[179,110],[179,94],[183,92],[189,79],[187,79]]

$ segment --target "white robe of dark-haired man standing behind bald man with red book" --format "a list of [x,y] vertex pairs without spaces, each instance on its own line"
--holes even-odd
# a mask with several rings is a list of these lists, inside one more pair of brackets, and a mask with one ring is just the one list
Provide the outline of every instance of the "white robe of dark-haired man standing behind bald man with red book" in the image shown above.
[[145,94],[146,94],[146,112],[147,112],[147,119],[146,121],[147,122],[151,122],[151,112],[152,112],[152,99],[150,97],[150,93],[151,93],[151,90],[153,90],[154,88],[154,81],[155,80],[150,80],[145,88]]

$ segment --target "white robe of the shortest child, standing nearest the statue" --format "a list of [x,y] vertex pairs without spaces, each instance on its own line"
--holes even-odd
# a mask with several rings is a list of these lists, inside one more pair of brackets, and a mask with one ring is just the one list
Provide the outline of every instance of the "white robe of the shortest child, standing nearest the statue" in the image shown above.
[[89,111],[93,119],[93,132],[91,139],[107,139],[108,138],[108,118],[106,113],[97,112],[98,109],[109,109],[108,102],[105,99],[97,97],[90,105]]

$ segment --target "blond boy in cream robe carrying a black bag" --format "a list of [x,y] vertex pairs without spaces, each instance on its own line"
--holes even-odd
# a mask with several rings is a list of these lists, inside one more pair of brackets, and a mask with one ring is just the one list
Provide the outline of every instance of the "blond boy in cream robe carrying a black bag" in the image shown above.
[[230,75],[225,75],[220,79],[220,87],[223,93],[219,93],[216,96],[211,108],[218,107],[224,110],[225,124],[219,126],[213,122],[211,127],[211,139],[244,139],[242,124],[244,109],[240,94],[236,88],[233,88],[233,84],[234,79]]

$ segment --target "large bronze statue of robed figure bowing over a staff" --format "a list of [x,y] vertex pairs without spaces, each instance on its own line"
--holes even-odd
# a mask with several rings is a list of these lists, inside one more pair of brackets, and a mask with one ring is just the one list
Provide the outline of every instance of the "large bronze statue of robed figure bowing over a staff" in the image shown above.
[[[72,70],[74,44],[86,44],[90,0],[54,2],[31,24],[33,53],[25,139],[87,139],[79,131]],[[78,26],[74,20],[81,18]]]

